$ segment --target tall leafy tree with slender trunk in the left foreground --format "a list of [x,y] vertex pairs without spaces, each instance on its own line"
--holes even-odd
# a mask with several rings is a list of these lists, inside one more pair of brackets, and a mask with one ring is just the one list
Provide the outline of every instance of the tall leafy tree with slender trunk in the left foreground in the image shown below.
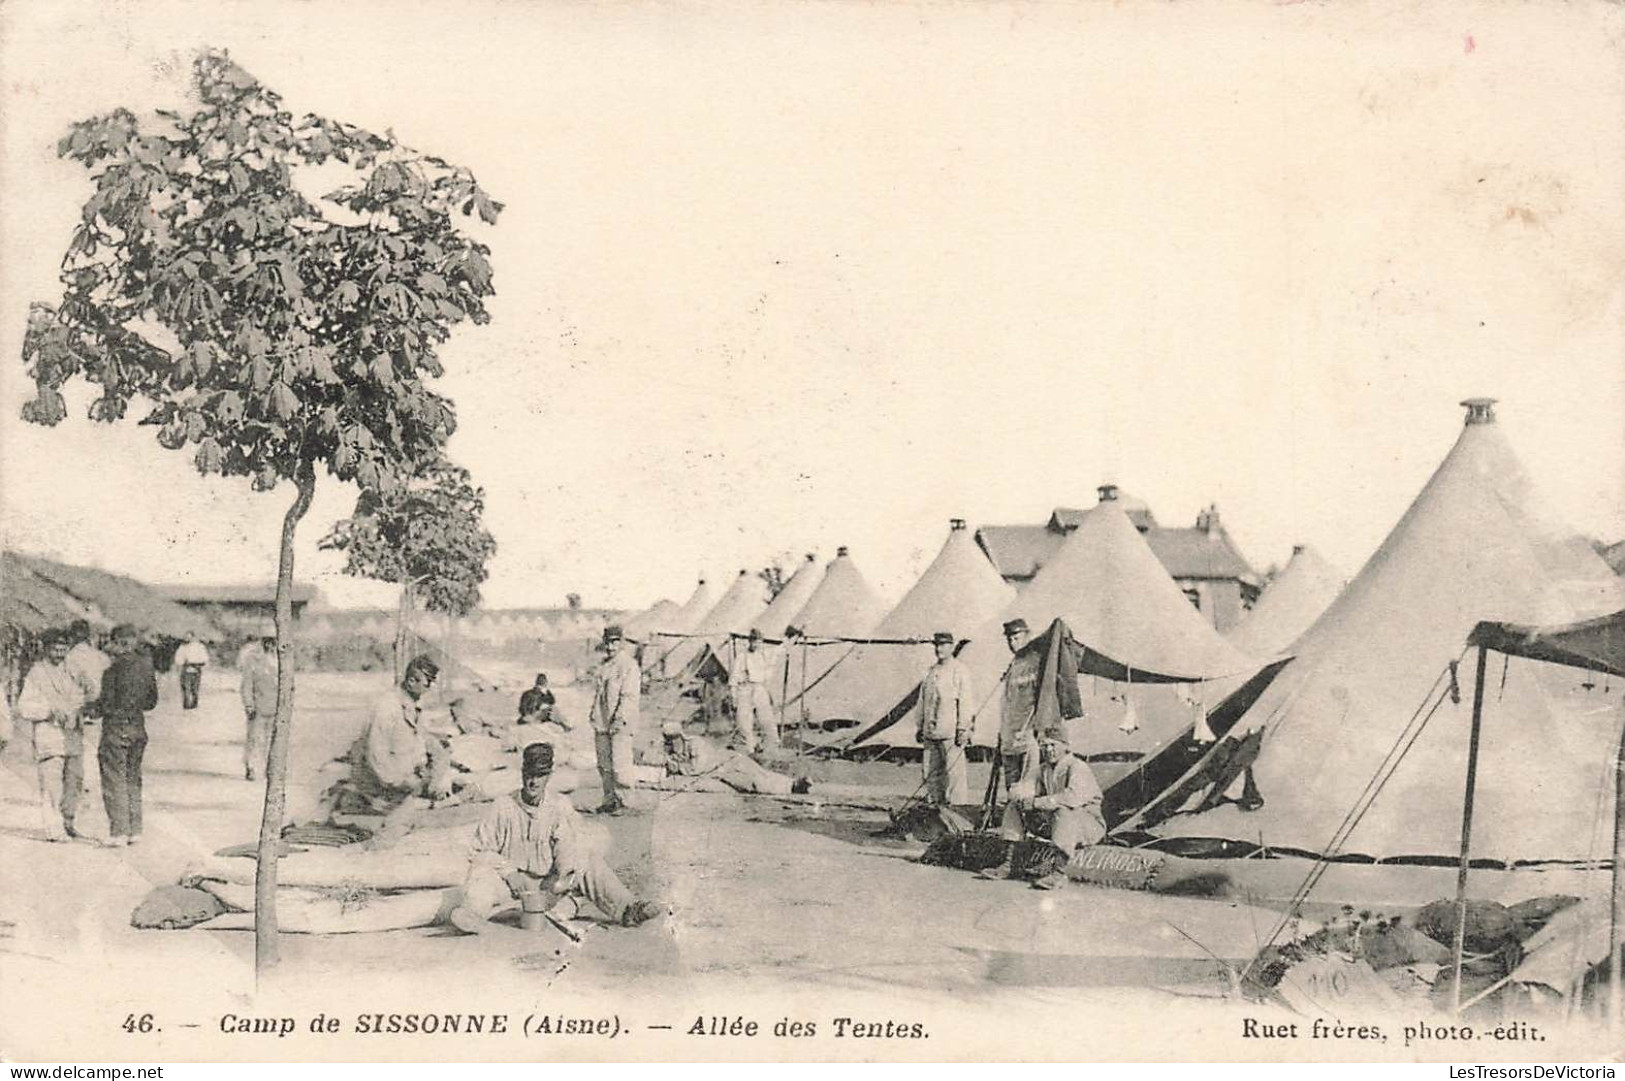
[[[193,63],[197,107],[75,124],[57,146],[94,192],[62,262],[62,301],[29,310],[24,419],[55,424],[75,377],[96,421],[156,428],[205,475],[292,481],[276,575],[278,696],[255,881],[255,962],[276,962],[276,842],[292,712],[294,533],[318,470],[395,491],[455,428],[432,392],[439,346],[488,322],[489,249],[460,224],[500,205],[468,169],[314,114],[224,52]],[[323,172],[343,177],[320,198]]]

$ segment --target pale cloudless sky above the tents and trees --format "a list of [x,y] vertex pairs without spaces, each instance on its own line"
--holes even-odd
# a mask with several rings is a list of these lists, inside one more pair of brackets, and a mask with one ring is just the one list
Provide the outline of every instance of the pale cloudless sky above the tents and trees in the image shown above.
[[[1217,502],[1259,569],[1308,543],[1354,572],[1472,395],[1625,536],[1617,5],[10,0],[0,42],[13,548],[275,577],[288,486],[83,406],[18,419],[89,193],[55,141],[184,107],[205,46],[507,203],[492,322],[439,384],[491,606],[681,601],[837,545],[897,598],[949,519],[1107,481],[1165,525]],[[353,499],[318,486],[297,575],[388,605],[315,548]]]

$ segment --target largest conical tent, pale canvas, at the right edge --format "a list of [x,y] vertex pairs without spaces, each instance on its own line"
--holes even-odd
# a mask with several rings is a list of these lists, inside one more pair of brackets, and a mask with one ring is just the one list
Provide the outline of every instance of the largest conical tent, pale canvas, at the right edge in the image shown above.
[[[1462,665],[1458,675],[1454,662],[1474,624],[1571,623],[1625,603],[1625,584],[1542,507],[1490,402],[1464,405],[1456,445],[1298,639],[1295,660],[1186,784],[1131,826],[1328,855],[1458,853],[1474,673]],[[1604,688],[1576,670],[1500,658],[1485,692],[1493,717],[1479,753],[1474,855],[1602,855],[1594,826],[1614,813]],[[1222,801],[1233,771],[1201,788],[1204,769],[1246,746],[1258,748],[1263,797],[1251,811]]]

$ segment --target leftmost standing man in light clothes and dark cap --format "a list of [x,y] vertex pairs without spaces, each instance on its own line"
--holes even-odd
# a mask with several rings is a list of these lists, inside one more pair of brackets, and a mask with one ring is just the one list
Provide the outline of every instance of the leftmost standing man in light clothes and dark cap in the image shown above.
[[84,772],[84,730],[80,712],[84,689],[68,671],[68,640],[52,631],[46,655],[34,662],[16,699],[18,718],[34,730],[34,767],[39,775],[39,810],[47,840],[78,837],[73,818],[80,810]]

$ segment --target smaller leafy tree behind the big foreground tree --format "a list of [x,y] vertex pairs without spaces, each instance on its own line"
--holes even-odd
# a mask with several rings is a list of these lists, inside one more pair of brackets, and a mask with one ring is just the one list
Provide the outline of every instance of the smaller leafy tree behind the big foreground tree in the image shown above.
[[403,486],[362,489],[351,517],[333,525],[322,548],[346,554],[344,574],[401,587],[395,621],[395,678],[411,652],[413,613],[466,616],[479,606],[479,584],[497,543],[481,519],[484,491],[468,470],[437,457],[422,462]]

